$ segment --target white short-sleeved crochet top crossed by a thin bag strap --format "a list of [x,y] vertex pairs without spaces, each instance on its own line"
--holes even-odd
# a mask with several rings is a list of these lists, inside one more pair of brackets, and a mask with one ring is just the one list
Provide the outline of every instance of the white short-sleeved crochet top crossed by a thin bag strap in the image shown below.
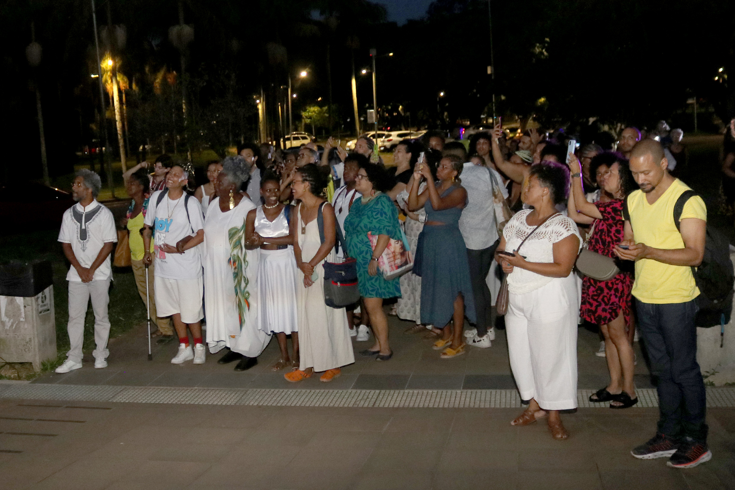
[[[520,242],[523,242],[523,239],[536,228],[536,226],[526,223],[526,217],[531,211],[531,209],[523,209],[517,212],[503,229],[503,237],[506,239],[506,251],[516,250]],[[571,234],[576,235],[579,239],[579,247],[581,248],[582,239],[579,236],[576,223],[564,215],[551,217],[536,233],[531,235],[531,238],[526,240],[518,253],[525,256],[528,262],[548,264],[553,262],[553,244]],[[514,267],[513,272],[508,275],[508,292],[512,292],[514,295],[525,295],[549,284],[552,279],[554,278]]]

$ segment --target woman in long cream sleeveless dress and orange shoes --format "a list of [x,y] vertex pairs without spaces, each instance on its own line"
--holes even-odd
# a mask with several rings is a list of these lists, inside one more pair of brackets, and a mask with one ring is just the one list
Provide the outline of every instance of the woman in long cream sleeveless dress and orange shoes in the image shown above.
[[[324,303],[324,262],[334,262],[337,219],[334,208],[320,198],[325,179],[314,164],[298,169],[293,178],[293,197],[301,200],[291,212],[291,233],[296,237],[293,252],[299,271],[298,334],[300,367],[284,377],[296,383],[310,378],[314,371],[324,374],[320,381],[329,382],[340,375],[340,368],[355,361],[344,308],[335,309]],[[320,238],[318,215],[323,217]]]

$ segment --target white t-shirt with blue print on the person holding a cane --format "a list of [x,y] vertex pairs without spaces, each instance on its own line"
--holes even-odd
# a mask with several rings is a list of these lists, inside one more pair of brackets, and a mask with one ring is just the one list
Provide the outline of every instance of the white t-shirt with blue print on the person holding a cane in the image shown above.
[[[160,249],[164,243],[176,247],[176,242],[194,235],[204,229],[204,215],[201,205],[195,197],[186,199],[186,194],[172,201],[168,192],[156,206],[162,190],[156,191],[148,201],[148,212],[144,223],[154,230],[154,257],[156,261],[156,277],[165,279],[196,279],[201,277],[201,254],[199,247],[193,247],[184,253],[165,253]],[[184,209],[187,202],[187,209]]]

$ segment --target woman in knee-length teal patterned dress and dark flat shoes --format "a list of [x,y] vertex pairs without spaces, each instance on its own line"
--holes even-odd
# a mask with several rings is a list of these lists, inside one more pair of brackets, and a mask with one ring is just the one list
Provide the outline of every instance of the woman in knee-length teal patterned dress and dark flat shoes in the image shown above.
[[[388,345],[388,319],[383,311],[383,299],[401,296],[398,278],[386,281],[378,270],[378,258],[388,245],[388,239],[401,239],[398,211],[390,197],[385,195],[385,178],[378,165],[368,164],[360,168],[355,189],[362,194],[350,208],[345,218],[347,250],[357,261],[357,282],[365,309],[373,325],[375,344],[360,351],[362,356],[375,356],[378,361],[387,361],[393,355]],[[378,235],[376,248],[370,246],[370,234]]]

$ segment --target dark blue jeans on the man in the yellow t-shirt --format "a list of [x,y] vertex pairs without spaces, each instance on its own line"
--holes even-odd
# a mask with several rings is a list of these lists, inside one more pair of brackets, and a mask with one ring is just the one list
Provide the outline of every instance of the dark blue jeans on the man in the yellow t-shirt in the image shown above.
[[651,304],[636,300],[638,329],[659,378],[659,433],[706,442],[706,394],[697,363],[696,300]]

